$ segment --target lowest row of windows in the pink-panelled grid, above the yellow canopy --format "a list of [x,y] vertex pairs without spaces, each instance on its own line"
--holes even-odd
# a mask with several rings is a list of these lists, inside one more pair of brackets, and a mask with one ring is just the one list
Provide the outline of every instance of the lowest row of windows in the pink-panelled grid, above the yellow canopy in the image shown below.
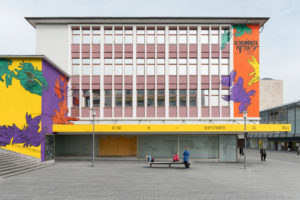
[[[155,94],[156,92],[156,94]],[[177,94],[178,92],[178,94]],[[228,90],[221,90],[221,96],[228,95]],[[100,107],[100,90],[92,90],[93,93],[93,107]],[[132,90],[124,90],[126,107],[132,107]],[[137,90],[137,106],[144,107],[145,104],[147,107],[155,106],[155,101],[157,106],[165,106],[165,90]],[[189,106],[197,106],[197,90],[187,90],[180,89],[169,90],[169,106],[177,106],[177,98],[179,98],[179,106],[187,106],[187,95],[189,95]],[[122,107],[123,105],[123,90],[114,90],[114,106]],[[73,106],[79,107],[79,90],[73,90]],[[104,106],[112,107],[113,103],[112,90],[104,90]],[[83,107],[90,107],[91,97],[90,90],[82,90],[82,105]],[[229,106],[228,101],[224,101],[222,98],[219,98],[219,90],[201,90],[201,106]]]

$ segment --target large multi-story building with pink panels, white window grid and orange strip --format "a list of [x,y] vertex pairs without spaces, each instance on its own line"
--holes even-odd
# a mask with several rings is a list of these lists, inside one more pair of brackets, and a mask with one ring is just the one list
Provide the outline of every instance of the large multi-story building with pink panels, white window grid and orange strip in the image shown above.
[[[268,18],[26,19],[36,53],[72,75],[76,124],[89,127],[94,114],[96,125],[118,130],[96,128],[100,156],[170,157],[188,146],[192,158],[235,161],[240,132],[193,126],[243,124],[244,111],[259,123],[259,29]],[[172,128],[151,131],[155,125]],[[57,129],[57,156],[90,155],[91,129],[74,127]]]

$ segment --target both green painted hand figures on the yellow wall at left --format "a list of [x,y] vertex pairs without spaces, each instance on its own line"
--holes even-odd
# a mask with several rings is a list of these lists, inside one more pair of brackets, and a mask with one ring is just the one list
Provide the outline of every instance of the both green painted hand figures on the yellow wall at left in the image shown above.
[[[44,78],[42,71],[38,68],[34,68],[32,63],[22,61],[19,68],[9,70],[9,66],[12,65],[12,61],[9,59],[0,59],[0,81],[4,82],[1,77],[5,75],[5,84],[8,88],[12,85],[12,79],[16,78],[20,81],[25,90],[42,96],[42,90],[48,89],[48,83]],[[15,74],[15,71],[17,72]]]

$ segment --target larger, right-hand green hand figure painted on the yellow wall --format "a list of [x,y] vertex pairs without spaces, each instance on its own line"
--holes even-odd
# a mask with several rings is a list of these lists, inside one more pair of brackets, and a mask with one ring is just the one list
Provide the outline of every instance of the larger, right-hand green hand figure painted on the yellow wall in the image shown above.
[[16,69],[16,78],[20,80],[21,85],[25,90],[42,96],[42,91],[48,89],[48,83],[42,71],[34,69],[31,63],[22,62],[19,67],[21,70]]

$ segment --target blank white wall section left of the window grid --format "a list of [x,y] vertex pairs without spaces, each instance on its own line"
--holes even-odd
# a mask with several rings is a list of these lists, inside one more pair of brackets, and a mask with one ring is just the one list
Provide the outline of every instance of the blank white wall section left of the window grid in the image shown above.
[[68,26],[37,25],[36,54],[43,54],[68,72]]

